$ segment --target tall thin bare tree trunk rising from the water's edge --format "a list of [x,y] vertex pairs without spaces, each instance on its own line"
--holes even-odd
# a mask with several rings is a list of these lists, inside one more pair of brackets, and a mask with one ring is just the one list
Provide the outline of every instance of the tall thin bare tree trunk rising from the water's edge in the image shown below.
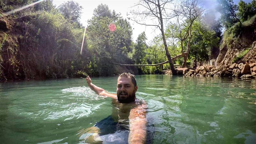
[[166,43],[166,39],[165,39],[165,36],[164,36],[164,23],[163,23],[163,18],[162,18],[162,13],[161,13],[161,6],[160,6],[160,3],[159,3],[159,0],[157,0],[157,7],[158,7],[158,10],[159,10],[159,16],[160,16],[160,22],[161,22],[161,33],[162,33],[162,37],[163,37],[163,41],[164,41],[164,49],[165,49],[165,55],[169,61],[169,64],[170,64],[170,67],[171,67],[171,71],[172,71],[172,75],[177,75],[177,72],[174,68],[174,65],[172,63],[172,57],[168,51],[168,47],[167,47],[167,43]]

